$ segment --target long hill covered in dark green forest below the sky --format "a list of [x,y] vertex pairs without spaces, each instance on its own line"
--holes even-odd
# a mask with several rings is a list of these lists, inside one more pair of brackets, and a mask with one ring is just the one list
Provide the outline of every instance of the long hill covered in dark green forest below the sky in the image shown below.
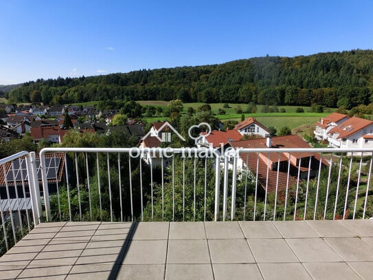
[[14,102],[45,104],[179,98],[203,103],[319,104],[349,109],[373,101],[373,50],[293,58],[266,56],[220,65],[39,79],[7,94]]

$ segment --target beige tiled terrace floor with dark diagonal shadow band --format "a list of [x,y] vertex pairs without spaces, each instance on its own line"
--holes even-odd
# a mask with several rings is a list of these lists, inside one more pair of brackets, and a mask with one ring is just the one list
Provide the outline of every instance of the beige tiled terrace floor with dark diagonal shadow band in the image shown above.
[[41,224],[0,258],[34,277],[372,279],[373,220]]

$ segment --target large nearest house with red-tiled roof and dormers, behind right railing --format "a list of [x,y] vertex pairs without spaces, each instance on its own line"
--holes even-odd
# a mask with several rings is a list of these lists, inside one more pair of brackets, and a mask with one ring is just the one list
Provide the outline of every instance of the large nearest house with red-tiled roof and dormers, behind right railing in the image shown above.
[[[285,148],[306,148],[309,144],[297,135],[278,136],[271,138],[257,138],[251,140],[239,140],[229,143],[234,149],[285,149]],[[300,164],[299,164],[300,163]],[[290,164],[290,168],[289,168]],[[319,170],[320,155],[318,153],[240,153],[237,168],[240,171],[248,171],[249,177],[257,177],[259,184],[268,193],[276,190],[286,189],[299,179],[314,177]],[[325,160],[322,164],[327,165]],[[299,170],[300,166],[300,170]],[[309,169],[310,166],[310,169]],[[257,173],[258,170],[258,173]]]

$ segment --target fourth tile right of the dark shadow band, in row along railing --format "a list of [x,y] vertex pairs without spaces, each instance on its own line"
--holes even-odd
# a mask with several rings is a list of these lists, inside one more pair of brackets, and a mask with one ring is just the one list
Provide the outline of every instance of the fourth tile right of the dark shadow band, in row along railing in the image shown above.
[[278,229],[269,221],[238,222],[246,238],[281,238]]

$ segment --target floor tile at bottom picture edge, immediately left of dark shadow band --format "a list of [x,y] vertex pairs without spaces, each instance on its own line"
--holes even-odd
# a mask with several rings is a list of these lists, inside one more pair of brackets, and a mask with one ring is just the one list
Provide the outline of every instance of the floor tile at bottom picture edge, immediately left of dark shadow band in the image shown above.
[[66,279],[108,279],[113,268],[113,264],[77,265],[73,266]]

